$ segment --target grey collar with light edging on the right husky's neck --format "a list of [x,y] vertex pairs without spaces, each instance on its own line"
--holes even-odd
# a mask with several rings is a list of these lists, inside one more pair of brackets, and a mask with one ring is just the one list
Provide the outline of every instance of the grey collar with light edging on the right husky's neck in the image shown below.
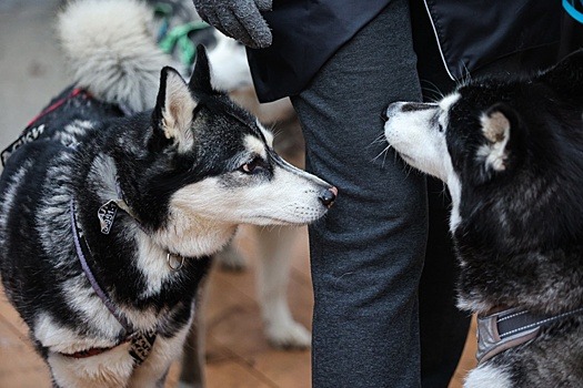
[[504,350],[529,343],[542,327],[581,313],[583,307],[553,316],[510,308],[484,317],[478,316],[478,365]]

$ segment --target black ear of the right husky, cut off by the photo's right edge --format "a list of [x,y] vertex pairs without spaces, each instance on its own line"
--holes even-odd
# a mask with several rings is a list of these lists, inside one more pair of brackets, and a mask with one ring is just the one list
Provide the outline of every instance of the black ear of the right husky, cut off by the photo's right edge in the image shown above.
[[562,95],[583,98],[583,49],[565,57],[553,68],[544,71],[537,80]]

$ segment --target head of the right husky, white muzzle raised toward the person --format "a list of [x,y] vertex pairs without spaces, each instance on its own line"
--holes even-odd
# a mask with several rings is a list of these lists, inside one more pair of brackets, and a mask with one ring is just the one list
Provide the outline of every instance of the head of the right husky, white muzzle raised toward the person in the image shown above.
[[438,103],[392,103],[385,136],[405,162],[448,184],[454,231],[479,205],[520,212],[519,193],[556,184],[559,161],[581,160],[582,101],[579,51],[534,78],[468,83]]

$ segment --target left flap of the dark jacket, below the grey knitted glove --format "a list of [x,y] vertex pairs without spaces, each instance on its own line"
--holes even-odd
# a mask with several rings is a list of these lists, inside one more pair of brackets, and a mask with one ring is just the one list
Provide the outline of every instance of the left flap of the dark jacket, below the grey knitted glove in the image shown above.
[[275,0],[268,49],[248,49],[260,101],[302,91],[332,54],[391,0]]

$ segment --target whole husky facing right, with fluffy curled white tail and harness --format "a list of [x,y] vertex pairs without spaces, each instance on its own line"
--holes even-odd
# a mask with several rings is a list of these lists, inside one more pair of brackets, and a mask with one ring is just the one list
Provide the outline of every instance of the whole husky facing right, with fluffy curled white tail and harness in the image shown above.
[[202,47],[189,84],[160,75],[149,12],[71,3],[59,32],[77,83],[2,154],[1,277],[60,387],[162,385],[209,255],[240,223],[306,224],[336,195],[212,89]]

